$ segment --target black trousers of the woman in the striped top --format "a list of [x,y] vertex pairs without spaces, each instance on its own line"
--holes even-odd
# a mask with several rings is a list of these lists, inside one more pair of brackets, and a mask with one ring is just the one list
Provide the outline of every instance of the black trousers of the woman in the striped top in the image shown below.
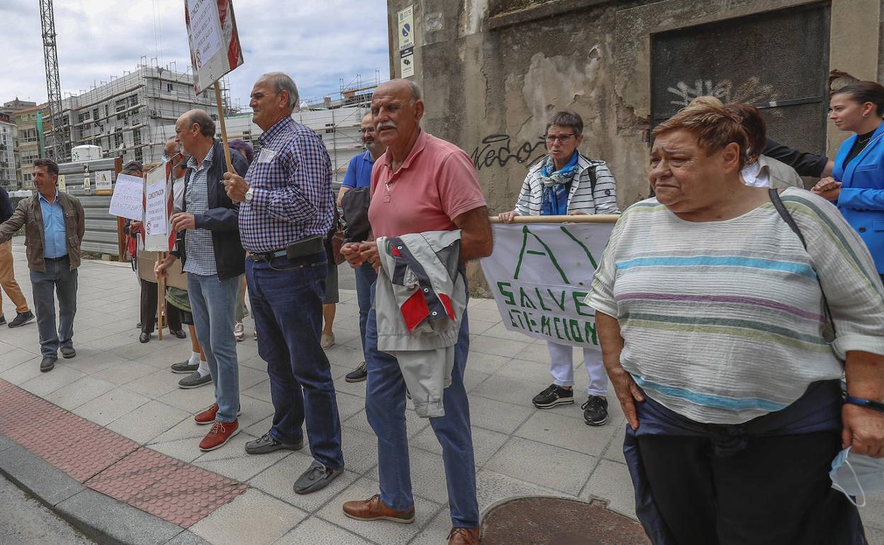
[[654,503],[678,545],[848,545],[838,536],[857,511],[828,477],[840,435],[748,442],[721,456],[707,437],[638,437]]

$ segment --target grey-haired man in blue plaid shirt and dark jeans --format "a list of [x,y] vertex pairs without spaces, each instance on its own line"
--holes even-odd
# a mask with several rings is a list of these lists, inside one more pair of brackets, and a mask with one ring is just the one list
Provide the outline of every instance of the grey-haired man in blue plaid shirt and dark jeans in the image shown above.
[[331,161],[319,135],[293,121],[297,104],[298,89],[286,74],[258,79],[249,105],[264,131],[261,153],[245,179],[225,174],[225,187],[241,202],[249,300],[276,411],[270,431],[247,443],[246,451],[301,449],[307,420],[314,460],[294,491],[308,494],[344,472],[344,457],[331,366],[319,345],[328,263],[321,243],[305,253],[314,237],[322,240],[331,228]]

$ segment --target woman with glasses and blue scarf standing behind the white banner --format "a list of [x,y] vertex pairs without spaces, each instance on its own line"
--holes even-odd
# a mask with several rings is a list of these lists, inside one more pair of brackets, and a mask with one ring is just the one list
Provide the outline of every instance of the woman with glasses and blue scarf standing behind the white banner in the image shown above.
[[[528,171],[515,209],[498,216],[512,223],[515,216],[565,216],[619,214],[617,182],[604,161],[583,156],[577,148],[583,143],[583,118],[571,111],[558,111],[546,124],[546,148]],[[574,347],[546,341],[550,352],[552,384],[531,403],[538,409],[574,403]],[[588,395],[582,405],[583,420],[590,426],[607,422],[607,376],[601,354],[583,349],[583,366],[590,376]]]

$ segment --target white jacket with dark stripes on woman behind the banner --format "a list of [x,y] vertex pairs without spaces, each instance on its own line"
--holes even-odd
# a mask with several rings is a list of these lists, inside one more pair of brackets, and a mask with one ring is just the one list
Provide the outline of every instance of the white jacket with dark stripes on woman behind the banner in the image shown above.
[[[543,201],[544,184],[540,181],[540,171],[544,168],[548,155],[544,155],[528,170],[522,183],[519,199],[515,201],[515,211],[520,216],[540,216],[540,203]],[[592,191],[590,170],[595,169],[596,189]],[[568,212],[584,214],[619,214],[617,208],[617,182],[613,179],[604,161],[593,161],[583,155],[577,156],[577,175],[571,182],[568,193]]]

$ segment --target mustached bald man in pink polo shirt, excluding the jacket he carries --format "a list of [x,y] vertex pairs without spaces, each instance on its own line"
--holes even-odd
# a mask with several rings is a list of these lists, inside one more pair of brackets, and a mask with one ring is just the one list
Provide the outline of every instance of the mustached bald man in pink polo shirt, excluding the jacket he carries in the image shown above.
[[[461,261],[492,253],[492,229],[476,168],[461,148],[421,130],[423,101],[413,81],[394,79],[371,96],[376,138],[387,146],[371,172],[369,221],[375,237],[399,237],[423,231],[461,230]],[[369,261],[379,266],[374,242],[341,249],[353,267]],[[372,291],[372,297],[374,289]],[[445,416],[430,419],[442,445],[453,528],[449,545],[479,542],[476,465],[469,428],[469,403],[463,387],[469,352],[469,327],[463,316],[455,347],[451,385],[443,403]],[[369,371],[365,411],[377,435],[380,494],[347,502],[344,513],[359,520],[415,520],[405,428],[405,381],[399,363],[377,350],[377,316],[369,313],[365,331]]]

